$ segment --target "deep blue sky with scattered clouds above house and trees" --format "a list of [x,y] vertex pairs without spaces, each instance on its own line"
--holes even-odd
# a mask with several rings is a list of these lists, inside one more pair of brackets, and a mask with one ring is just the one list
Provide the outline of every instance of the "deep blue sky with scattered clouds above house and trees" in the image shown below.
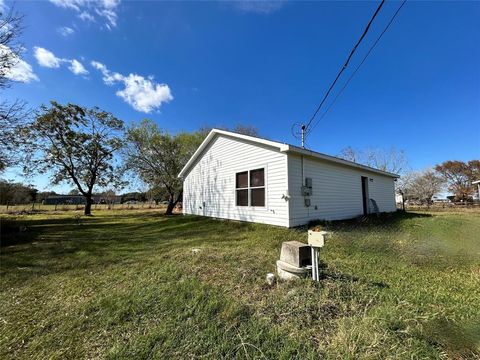
[[[399,4],[386,2],[340,86]],[[377,6],[20,1],[27,74],[4,95],[97,105],[173,133],[251,124],[298,144],[292,123],[308,121]],[[309,148],[393,146],[414,169],[480,158],[479,18],[479,2],[407,1]]]

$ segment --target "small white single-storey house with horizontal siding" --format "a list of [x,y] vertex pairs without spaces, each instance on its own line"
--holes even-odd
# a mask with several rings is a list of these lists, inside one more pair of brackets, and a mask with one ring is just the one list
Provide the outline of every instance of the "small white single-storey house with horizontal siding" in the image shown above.
[[292,227],[396,210],[396,174],[217,129],[179,177],[184,214]]

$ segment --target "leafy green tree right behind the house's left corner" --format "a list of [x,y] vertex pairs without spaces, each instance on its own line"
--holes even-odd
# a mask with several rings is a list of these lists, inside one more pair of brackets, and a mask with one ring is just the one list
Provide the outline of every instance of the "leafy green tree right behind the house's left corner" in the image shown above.
[[127,130],[126,140],[125,166],[151,188],[165,189],[169,197],[166,214],[171,215],[183,196],[183,182],[178,174],[203,140],[203,134],[171,135],[154,122],[144,120]]

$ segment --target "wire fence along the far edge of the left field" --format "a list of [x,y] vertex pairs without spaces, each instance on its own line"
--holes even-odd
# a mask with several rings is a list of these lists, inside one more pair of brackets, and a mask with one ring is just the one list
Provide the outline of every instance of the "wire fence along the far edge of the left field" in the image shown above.
[[[92,204],[92,211],[95,210],[139,210],[139,209],[166,209],[165,204],[155,204],[150,202],[135,204]],[[0,214],[9,214],[17,212],[47,212],[47,211],[79,211],[83,210],[83,204],[56,204],[45,205],[42,203],[20,204],[20,205],[0,205]]]

